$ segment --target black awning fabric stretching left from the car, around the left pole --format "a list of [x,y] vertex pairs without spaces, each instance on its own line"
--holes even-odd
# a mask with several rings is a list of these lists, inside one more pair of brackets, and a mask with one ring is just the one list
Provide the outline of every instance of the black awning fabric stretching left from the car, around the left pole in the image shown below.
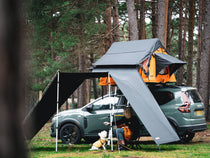
[[[107,73],[60,73],[59,107],[89,78],[105,77]],[[37,102],[23,121],[23,128],[27,139],[32,139],[36,133],[55,114],[57,106],[57,75],[43,93],[42,99]]]

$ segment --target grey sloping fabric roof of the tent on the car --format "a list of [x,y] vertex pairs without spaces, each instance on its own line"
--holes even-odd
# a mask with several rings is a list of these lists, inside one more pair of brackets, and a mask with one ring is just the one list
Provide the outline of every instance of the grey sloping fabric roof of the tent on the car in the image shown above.
[[135,67],[160,47],[164,48],[157,38],[115,42],[93,67]]

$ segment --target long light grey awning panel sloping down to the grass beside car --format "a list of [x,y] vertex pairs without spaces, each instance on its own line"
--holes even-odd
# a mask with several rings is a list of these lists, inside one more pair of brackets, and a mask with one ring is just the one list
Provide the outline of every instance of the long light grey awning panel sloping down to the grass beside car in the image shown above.
[[[104,69],[95,69],[94,71],[103,72]],[[178,135],[136,69],[110,68],[107,71],[130,102],[156,144],[179,140]]]

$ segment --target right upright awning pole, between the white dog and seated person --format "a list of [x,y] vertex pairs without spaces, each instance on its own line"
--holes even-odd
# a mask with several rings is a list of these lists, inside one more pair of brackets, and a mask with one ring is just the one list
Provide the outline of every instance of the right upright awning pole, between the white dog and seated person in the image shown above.
[[[110,74],[108,73],[108,81],[109,81],[109,99],[111,99],[111,83],[110,83]],[[113,151],[113,128],[112,128],[112,122],[113,122],[113,108],[112,108],[112,104],[111,104],[111,100],[109,103],[109,109],[110,109],[110,139],[111,139],[111,150]],[[112,111],[111,111],[112,109]]]

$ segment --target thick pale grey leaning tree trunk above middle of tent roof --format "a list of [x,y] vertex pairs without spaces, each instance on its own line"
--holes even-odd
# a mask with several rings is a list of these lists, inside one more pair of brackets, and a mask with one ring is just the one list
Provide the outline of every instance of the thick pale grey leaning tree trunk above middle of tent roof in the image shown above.
[[134,0],[126,0],[127,11],[128,11],[128,25],[129,25],[129,39],[131,41],[138,40],[138,25],[136,19],[136,11]]

